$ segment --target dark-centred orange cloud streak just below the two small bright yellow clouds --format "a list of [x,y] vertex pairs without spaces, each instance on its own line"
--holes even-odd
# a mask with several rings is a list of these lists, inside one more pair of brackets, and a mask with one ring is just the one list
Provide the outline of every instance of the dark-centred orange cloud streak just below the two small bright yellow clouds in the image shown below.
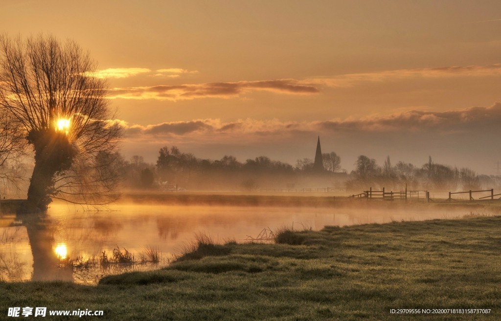
[[158,85],[151,87],[127,87],[108,90],[108,98],[191,100],[196,98],[231,98],[251,91],[269,91],[281,94],[311,95],[319,89],[295,79],[219,82],[191,85]]

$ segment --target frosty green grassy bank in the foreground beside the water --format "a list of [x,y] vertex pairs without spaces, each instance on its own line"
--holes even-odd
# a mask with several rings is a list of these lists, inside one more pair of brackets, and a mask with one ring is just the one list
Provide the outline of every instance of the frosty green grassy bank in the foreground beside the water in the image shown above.
[[[94,287],[0,282],[0,319],[9,306],[104,310],[101,320],[499,319],[500,227],[490,216],[285,231],[276,244],[203,241],[166,269]],[[491,312],[389,313],[399,307]]]

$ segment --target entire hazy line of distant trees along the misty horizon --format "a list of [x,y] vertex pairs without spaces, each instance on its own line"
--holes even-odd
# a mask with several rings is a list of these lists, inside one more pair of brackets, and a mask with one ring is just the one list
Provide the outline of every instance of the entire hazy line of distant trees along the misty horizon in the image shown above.
[[299,159],[296,166],[272,160],[266,156],[244,162],[234,156],[221,159],[197,158],[177,147],[162,147],[156,163],[148,164],[142,156],[117,161],[126,188],[162,188],[175,185],[188,190],[242,190],[260,188],[346,187],[363,191],[369,187],[387,190],[477,190],[501,187],[501,177],[478,175],[470,168],[457,168],[433,162],[416,166],[403,161],[395,165],[388,156],[380,166],[375,159],[360,155],[355,169],[346,173],[341,158],[335,153],[323,154],[323,172],[313,170],[313,160]]

